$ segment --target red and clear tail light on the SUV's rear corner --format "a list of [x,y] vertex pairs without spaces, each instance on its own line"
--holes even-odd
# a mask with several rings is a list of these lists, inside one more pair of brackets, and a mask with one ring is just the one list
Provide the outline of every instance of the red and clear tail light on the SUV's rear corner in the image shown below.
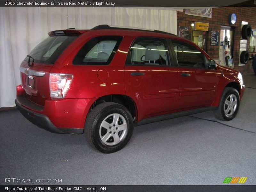
[[52,98],[64,98],[69,90],[73,75],[50,73],[50,94]]

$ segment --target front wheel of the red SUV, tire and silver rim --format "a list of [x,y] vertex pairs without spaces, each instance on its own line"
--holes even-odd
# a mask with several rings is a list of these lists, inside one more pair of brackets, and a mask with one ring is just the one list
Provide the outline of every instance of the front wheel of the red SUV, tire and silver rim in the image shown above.
[[214,115],[217,119],[230,121],[235,118],[239,105],[240,96],[238,91],[232,87],[226,87],[222,93],[219,108],[214,111]]

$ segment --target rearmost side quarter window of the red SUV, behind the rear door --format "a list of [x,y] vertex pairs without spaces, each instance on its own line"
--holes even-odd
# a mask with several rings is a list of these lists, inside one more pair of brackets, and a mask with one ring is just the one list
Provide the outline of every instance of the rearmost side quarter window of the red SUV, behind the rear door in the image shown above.
[[122,41],[122,36],[100,36],[84,44],[73,60],[74,65],[108,65]]

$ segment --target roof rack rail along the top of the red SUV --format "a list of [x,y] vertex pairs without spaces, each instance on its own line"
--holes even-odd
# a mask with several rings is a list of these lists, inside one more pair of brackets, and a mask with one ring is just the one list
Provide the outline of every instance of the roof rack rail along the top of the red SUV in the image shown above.
[[177,36],[175,34],[167,33],[167,32],[164,32],[164,31],[159,31],[159,30],[152,30],[152,29],[145,29],[145,28],[135,28],[135,27],[111,26],[111,25],[98,25],[98,26],[92,28],[91,30],[98,30],[98,29],[128,29],[128,30],[148,31],[148,32],[163,33],[163,34],[167,34],[167,35]]

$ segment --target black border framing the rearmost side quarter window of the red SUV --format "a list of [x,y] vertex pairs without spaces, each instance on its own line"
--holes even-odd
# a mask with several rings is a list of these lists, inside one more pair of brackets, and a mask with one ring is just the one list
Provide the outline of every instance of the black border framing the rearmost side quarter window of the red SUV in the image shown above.
[[[74,64],[74,60],[76,59],[76,56],[78,55],[78,53],[84,48],[84,46],[89,42],[89,41],[91,41],[92,39],[94,39],[94,38],[99,38],[99,37],[107,37],[107,38],[109,38],[109,39],[105,39],[105,40],[116,40],[116,45],[115,45],[115,47],[114,47],[114,49],[112,50],[112,52],[111,52],[111,54],[109,55],[109,58],[108,58],[108,60],[107,60],[107,62],[101,62],[101,63],[98,63],[98,62],[95,62],[95,64],[92,64],[92,63],[90,63],[90,64],[84,64],[84,62],[82,62],[83,64]],[[111,37],[113,37],[113,39],[111,39]],[[116,38],[116,39],[115,39]],[[118,41],[118,38],[120,38],[120,40]],[[117,52],[117,50],[118,50],[118,48],[119,48],[119,46],[122,44],[122,41],[123,41],[123,39],[124,39],[124,36],[119,36],[119,35],[101,35],[101,36],[94,36],[94,37],[92,37],[92,38],[90,38],[89,40],[87,40],[83,45],[82,45],[82,47],[79,49],[79,51],[76,53],[76,55],[75,55],[75,57],[73,58],[73,60],[72,60],[72,65],[75,65],[75,66],[108,66],[108,65],[110,65],[111,64],[111,62],[113,61],[113,59],[114,59],[114,57],[115,57],[115,55],[116,55],[116,52]],[[105,41],[105,40],[102,40],[102,41]],[[99,43],[99,42],[98,42]],[[95,44],[96,45],[96,44]],[[95,46],[94,45],[94,46]],[[92,46],[92,48],[93,48],[93,46]],[[92,49],[91,48],[91,49]],[[90,50],[91,50],[90,49]],[[90,51],[89,50],[89,51]],[[88,53],[88,52],[87,52]],[[86,53],[86,54],[87,54]],[[114,54],[113,54],[114,53]],[[85,55],[86,55],[85,54]],[[112,55],[113,54],[113,55]],[[85,56],[84,55],[84,56]]]

